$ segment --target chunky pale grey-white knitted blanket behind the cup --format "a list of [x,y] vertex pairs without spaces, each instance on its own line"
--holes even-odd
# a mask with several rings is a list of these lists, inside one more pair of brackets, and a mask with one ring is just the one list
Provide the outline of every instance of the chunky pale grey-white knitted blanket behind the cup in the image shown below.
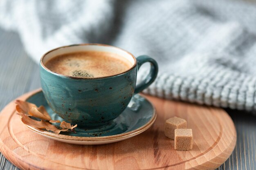
[[[226,0],[1,0],[0,26],[38,63],[58,46],[103,43],[159,63],[144,92],[256,110],[256,6]],[[144,70],[146,68],[144,67]],[[141,75],[138,81],[141,80]]]

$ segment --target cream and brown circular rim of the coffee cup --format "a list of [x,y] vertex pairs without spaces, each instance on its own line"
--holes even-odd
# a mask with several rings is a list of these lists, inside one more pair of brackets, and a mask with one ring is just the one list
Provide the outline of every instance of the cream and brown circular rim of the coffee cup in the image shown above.
[[[104,77],[83,78],[83,77],[73,77],[73,76],[69,76],[69,75],[62,75],[62,74],[55,73],[55,72],[49,70],[49,68],[47,68],[47,67],[45,66],[45,64],[43,63],[44,57],[45,57],[47,54],[51,53],[52,51],[56,51],[56,50],[58,50],[58,49],[63,49],[63,48],[68,48],[68,47],[71,47],[71,46],[87,46],[87,45],[109,46],[109,47],[114,47],[114,48],[116,48],[116,49],[122,50],[122,51],[124,51],[125,53],[128,53],[128,55],[132,56],[132,58],[133,58],[133,60],[134,60],[134,64],[133,64],[128,70],[126,70],[126,71],[124,71],[124,72],[121,72],[121,73],[118,73],[118,74],[115,74],[115,75],[109,75],[109,76],[104,76]],[[47,51],[47,52],[44,53],[44,54],[42,55],[42,57],[40,58],[40,65],[41,65],[46,71],[48,71],[49,73],[52,73],[52,74],[58,75],[58,76],[63,76],[63,77],[72,78],[72,79],[103,79],[103,78],[114,77],[114,76],[117,76],[117,75],[123,75],[123,74],[127,73],[128,71],[130,71],[130,70],[132,70],[133,68],[135,68],[135,66],[137,65],[137,60],[136,60],[136,57],[135,57],[132,53],[130,53],[130,52],[124,50],[124,49],[121,49],[121,48],[119,48],[119,47],[117,47],[117,46],[112,46],[112,45],[107,45],[107,44],[98,44],[98,43],[85,43],[85,44],[71,44],[71,45],[67,45],[67,46],[60,46],[60,47],[57,47],[57,48],[52,49],[52,50],[50,50],[50,51]]]

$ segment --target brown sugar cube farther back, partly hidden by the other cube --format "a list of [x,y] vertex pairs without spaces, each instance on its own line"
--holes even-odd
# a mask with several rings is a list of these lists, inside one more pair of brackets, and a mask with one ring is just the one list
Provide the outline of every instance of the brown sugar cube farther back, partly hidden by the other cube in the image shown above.
[[175,129],[186,129],[186,120],[180,117],[171,117],[165,122],[164,134],[166,137],[174,139]]

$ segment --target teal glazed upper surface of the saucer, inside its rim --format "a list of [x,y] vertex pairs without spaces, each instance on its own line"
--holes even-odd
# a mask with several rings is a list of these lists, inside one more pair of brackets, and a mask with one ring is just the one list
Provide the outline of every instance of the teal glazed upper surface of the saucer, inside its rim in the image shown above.
[[[27,100],[36,104],[36,106],[45,106],[47,112],[52,117],[52,119],[60,119],[54,111],[49,107],[42,91],[31,95]],[[103,126],[101,128],[76,128],[76,133],[73,132],[61,132],[63,135],[78,136],[78,137],[100,137],[100,136],[111,136],[119,135],[122,133],[130,132],[136,130],[150,121],[154,115],[154,108],[148,100],[140,95],[134,95],[124,112],[114,119],[111,124]],[[56,124],[58,125],[58,124]]]

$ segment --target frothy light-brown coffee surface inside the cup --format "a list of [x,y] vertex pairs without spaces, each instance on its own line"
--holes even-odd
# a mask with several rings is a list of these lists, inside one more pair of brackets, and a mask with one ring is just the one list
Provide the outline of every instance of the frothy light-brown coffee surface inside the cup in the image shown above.
[[117,75],[132,65],[121,55],[101,51],[67,53],[53,57],[45,63],[45,66],[55,73],[81,78]]

